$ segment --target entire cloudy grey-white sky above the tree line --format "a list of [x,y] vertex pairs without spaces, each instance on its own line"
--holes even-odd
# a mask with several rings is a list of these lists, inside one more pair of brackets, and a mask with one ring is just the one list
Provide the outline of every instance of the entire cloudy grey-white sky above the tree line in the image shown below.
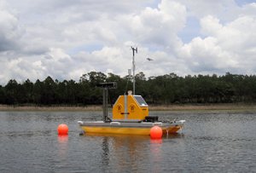
[[[255,0],[0,0],[0,84],[131,68],[256,73]],[[147,58],[154,61],[147,61]]]

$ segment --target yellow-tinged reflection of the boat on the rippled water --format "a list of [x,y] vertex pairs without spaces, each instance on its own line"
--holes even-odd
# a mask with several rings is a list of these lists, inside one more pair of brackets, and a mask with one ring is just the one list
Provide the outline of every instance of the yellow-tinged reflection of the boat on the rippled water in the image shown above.
[[[162,170],[162,161],[166,157],[163,146],[168,141],[183,138],[183,134],[171,134],[162,139],[152,140],[150,136],[85,134],[85,141],[99,141],[101,146],[102,171],[113,172]],[[168,144],[169,143],[169,144]],[[114,166],[114,168],[113,168]]]

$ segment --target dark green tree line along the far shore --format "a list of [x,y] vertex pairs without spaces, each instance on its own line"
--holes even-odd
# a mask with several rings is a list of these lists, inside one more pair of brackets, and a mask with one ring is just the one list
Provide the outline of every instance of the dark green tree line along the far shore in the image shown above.
[[[58,81],[47,77],[32,83],[29,79],[17,83],[10,79],[0,85],[0,104],[6,105],[68,105],[86,106],[102,104],[102,89],[96,84],[116,82],[117,89],[109,89],[109,102],[132,90],[129,76],[102,72],[88,72],[76,82],[73,79]],[[136,75],[136,94],[143,95],[148,104],[173,103],[236,103],[256,102],[256,76],[227,72],[223,76],[195,75],[179,77],[170,73],[145,78],[143,72]]]

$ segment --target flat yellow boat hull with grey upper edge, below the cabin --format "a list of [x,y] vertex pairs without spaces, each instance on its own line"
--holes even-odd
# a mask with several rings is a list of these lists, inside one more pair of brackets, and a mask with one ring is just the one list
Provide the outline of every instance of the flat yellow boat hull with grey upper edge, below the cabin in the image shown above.
[[183,128],[183,121],[175,123],[120,123],[111,122],[104,123],[102,121],[96,122],[83,122],[79,121],[79,125],[85,133],[100,133],[100,134],[123,134],[123,135],[150,135],[150,129],[154,125],[158,125],[163,134],[177,133],[178,130]]

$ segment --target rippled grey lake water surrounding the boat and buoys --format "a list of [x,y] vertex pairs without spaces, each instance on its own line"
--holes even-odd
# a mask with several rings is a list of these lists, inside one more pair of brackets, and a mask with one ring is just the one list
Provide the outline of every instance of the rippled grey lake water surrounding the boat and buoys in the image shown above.
[[185,119],[182,133],[79,136],[102,112],[0,112],[0,172],[256,172],[255,113],[150,113]]

